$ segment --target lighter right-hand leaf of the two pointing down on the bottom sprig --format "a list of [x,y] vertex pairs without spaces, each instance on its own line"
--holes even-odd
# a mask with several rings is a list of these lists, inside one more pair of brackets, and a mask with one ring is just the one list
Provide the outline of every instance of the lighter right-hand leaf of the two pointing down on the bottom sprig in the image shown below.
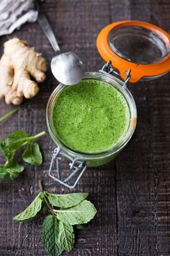
[[73,249],[73,226],[68,223],[64,223],[63,221],[59,221],[58,244],[61,248],[66,249],[67,252],[70,252],[71,249]]

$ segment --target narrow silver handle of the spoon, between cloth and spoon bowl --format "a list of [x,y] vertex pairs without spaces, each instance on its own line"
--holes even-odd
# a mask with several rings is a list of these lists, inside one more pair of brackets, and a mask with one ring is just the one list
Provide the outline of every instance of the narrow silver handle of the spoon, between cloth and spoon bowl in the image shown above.
[[37,21],[40,24],[42,31],[45,33],[48,40],[50,41],[51,46],[53,46],[54,51],[56,51],[58,54],[61,53],[61,49],[58,46],[58,42],[55,38],[50,23],[48,22],[48,19],[43,12],[39,12]]

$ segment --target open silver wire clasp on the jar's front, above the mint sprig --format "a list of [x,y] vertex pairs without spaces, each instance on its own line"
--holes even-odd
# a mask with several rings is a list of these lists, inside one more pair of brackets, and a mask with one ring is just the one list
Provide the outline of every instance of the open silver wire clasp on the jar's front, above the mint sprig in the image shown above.
[[[60,162],[61,162],[62,156],[71,160],[71,163],[69,163],[69,166],[71,169],[71,174],[69,174],[65,179],[61,178],[61,173],[60,173]],[[56,164],[56,175],[52,173],[53,163]],[[50,168],[49,168],[49,176],[52,179],[55,179],[55,181],[59,182],[60,184],[66,186],[66,187],[69,187],[70,189],[73,189],[74,187],[76,187],[76,184],[81,179],[81,176],[84,174],[84,171],[86,171],[86,162],[84,161],[84,159],[81,159],[81,158],[73,159],[73,158],[69,157],[68,155],[66,155],[65,153],[63,153],[61,151],[61,148],[59,148],[59,147],[55,148],[55,150],[53,151],[53,156],[52,156]],[[79,173],[79,175],[77,176],[76,181],[73,183],[73,185],[68,184],[70,179],[72,179],[73,176],[76,176],[76,174],[78,174],[78,173]]]

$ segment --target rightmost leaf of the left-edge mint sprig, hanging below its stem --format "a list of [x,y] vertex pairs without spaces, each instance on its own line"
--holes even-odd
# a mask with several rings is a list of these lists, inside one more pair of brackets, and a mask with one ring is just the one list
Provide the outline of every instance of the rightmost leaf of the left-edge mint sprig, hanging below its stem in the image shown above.
[[29,143],[22,154],[22,158],[26,163],[40,166],[42,164],[42,154],[39,145],[37,143]]

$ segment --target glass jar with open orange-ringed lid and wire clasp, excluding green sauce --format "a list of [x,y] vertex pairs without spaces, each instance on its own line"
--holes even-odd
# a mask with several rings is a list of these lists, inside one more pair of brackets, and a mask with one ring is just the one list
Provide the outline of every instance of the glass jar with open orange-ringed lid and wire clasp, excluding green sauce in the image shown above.
[[[71,150],[61,142],[53,127],[53,104],[61,90],[66,88],[66,85],[58,85],[50,96],[47,109],[48,130],[58,147],[53,153],[49,174],[53,179],[70,188],[76,186],[86,167],[102,166],[112,161],[132,137],[137,121],[137,111],[126,83],[155,79],[170,70],[170,35],[148,22],[125,20],[107,25],[97,36],[97,48],[107,64],[99,72],[87,72],[84,80],[102,80],[119,90],[129,106],[130,124],[126,134],[109,150],[95,154]],[[115,74],[120,76],[121,80],[115,77]],[[71,160],[71,174],[64,180],[60,178],[62,155]],[[52,174],[54,161],[56,161],[57,176]],[[79,174],[76,182],[69,185],[68,182],[75,174]]]

